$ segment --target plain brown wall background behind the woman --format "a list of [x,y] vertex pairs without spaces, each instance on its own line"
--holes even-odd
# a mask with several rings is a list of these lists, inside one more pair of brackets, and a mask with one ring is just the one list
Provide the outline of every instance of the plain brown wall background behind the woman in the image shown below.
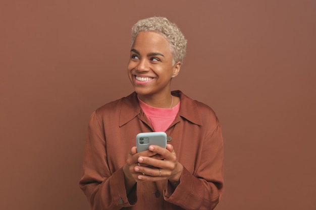
[[316,209],[315,1],[5,0],[0,10],[0,209],[88,209],[78,187],[88,118],[132,92],[130,28],[150,16],[188,39],[173,89],[223,124],[217,210]]

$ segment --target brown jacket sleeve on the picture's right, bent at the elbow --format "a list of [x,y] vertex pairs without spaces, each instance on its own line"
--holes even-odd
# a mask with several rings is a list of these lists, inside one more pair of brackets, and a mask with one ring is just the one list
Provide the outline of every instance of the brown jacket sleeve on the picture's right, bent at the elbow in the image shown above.
[[214,209],[224,191],[223,162],[223,137],[217,121],[217,126],[205,136],[196,173],[184,168],[176,189],[168,184],[165,200],[184,209]]

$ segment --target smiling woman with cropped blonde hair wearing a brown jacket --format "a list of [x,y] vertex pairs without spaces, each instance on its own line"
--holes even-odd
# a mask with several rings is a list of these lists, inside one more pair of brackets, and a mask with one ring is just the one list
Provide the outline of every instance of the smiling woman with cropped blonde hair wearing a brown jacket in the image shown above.
[[[128,76],[135,92],[90,118],[80,187],[91,209],[213,209],[219,202],[221,125],[207,105],[171,92],[186,42],[166,18],[133,26]],[[136,134],[151,131],[167,133],[167,148],[137,153]]]

